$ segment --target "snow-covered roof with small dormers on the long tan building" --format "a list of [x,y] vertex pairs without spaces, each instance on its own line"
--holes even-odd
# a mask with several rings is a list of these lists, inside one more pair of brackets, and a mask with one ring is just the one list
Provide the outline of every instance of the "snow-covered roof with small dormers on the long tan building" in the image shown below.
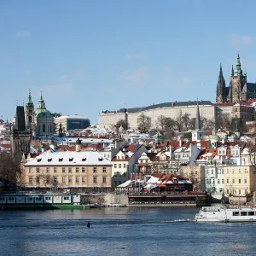
[[111,162],[96,151],[44,152],[25,166],[112,166]]

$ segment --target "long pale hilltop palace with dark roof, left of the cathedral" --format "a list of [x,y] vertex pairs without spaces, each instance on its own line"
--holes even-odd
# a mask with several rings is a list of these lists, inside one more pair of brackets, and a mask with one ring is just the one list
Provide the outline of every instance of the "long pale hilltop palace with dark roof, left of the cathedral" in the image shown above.
[[119,119],[124,119],[127,120],[130,129],[137,130],[137,118],[144,113],[151,118],[151,128],[156,128],[158,126],[158,118],[161,115],[177,119],[177,116],[181,113],[189,113],[190,118],[195,118],[198,108],[202,118],[215,120],[216,107],[212,102],[166,102],[143,108],[121,108],[118,111],[102,111],[99,114],[99,126],[113,127]]

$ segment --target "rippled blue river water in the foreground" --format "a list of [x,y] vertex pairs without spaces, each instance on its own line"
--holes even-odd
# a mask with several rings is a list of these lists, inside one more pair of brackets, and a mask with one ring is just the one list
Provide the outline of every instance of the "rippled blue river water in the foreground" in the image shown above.
[[198,211],[130,207],[0,212],[0,255],[256,255],[256,224],[189,221]]

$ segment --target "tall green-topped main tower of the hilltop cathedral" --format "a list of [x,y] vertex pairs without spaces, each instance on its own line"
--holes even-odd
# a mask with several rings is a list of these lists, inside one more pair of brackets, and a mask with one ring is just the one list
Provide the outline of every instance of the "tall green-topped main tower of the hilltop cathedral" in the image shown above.
[[241,70],[241,61],[239,52],[236,58],[236,70],[232,67],[230,77],[230,90],[227,102],[247,101],[247,74]]

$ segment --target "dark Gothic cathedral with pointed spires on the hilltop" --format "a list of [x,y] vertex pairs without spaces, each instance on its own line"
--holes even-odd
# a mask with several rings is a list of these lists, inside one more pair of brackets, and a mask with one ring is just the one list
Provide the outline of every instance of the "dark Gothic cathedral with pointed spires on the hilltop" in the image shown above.
[[230,86],[226,87],[222,67],[220,66],[216,93],[216,103],[241,102],[256,98],[256,84],[247,82],[247,73],[241,70],[239,53],[236,58],[236,70],[232,66]]

